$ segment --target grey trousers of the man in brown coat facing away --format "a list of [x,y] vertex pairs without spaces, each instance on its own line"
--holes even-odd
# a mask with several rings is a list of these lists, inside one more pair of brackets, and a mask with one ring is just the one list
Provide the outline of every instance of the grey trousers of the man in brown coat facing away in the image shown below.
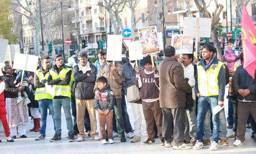
[[167,143],[172,142],[172,122],[174,124],[174,146],[182,145],[185,131],[185,108],[162,108],[162,133]]

